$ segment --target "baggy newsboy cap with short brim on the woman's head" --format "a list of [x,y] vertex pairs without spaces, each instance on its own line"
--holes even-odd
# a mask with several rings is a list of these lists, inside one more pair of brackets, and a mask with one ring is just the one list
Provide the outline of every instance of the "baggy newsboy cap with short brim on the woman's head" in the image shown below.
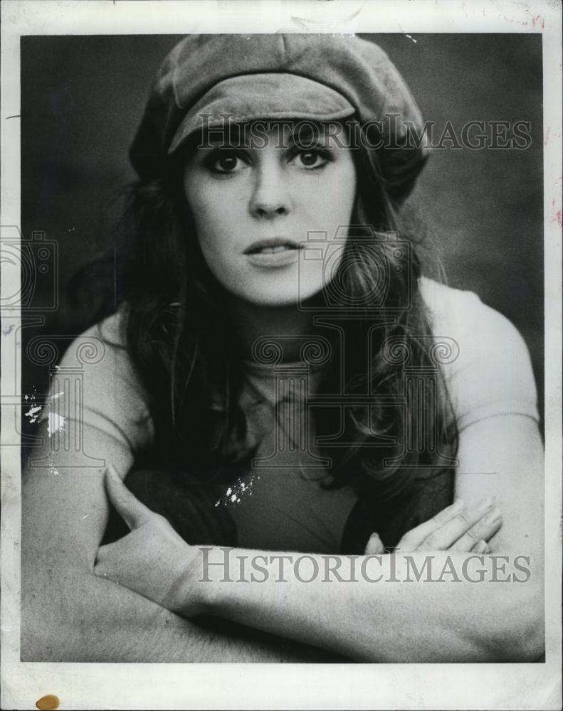
[[130,160],[142,180],[204,127],[225,121],[354,117],[379,130],[377,154],[391,197],[411,191],[427,151],[421,113],[384,51],[354,35],[190,35],[164,59]]

